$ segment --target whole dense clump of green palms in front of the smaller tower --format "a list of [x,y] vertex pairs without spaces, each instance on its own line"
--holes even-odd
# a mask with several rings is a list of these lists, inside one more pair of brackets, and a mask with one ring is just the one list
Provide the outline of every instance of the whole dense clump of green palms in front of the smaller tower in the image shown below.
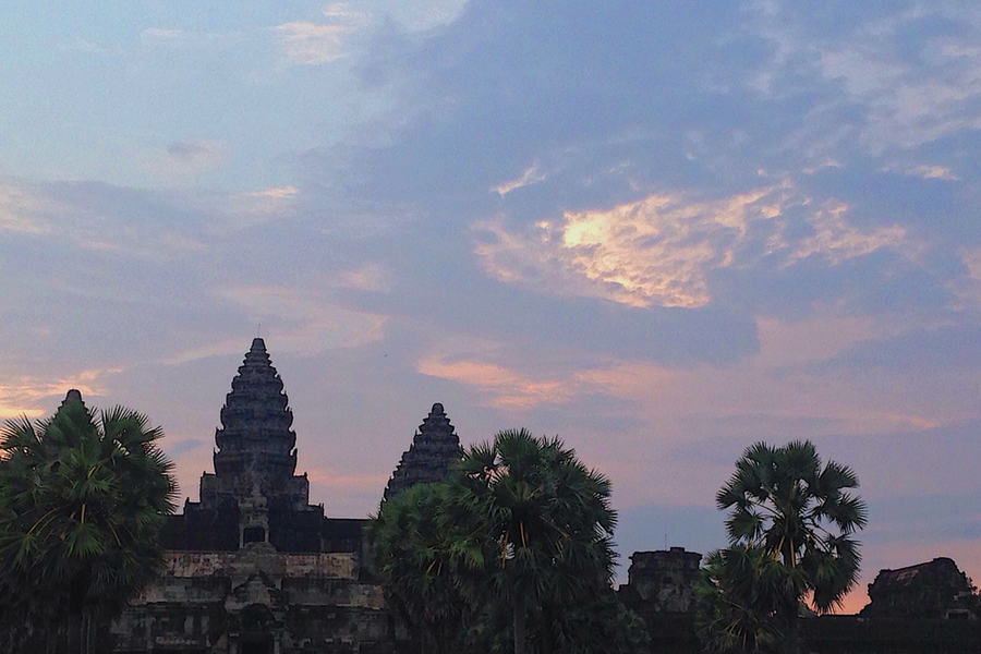
[[384,502],[370,557],[435,652],[645,651],[642,622],[610,588],[609,492],[559,439],[500,432],[446,484]]

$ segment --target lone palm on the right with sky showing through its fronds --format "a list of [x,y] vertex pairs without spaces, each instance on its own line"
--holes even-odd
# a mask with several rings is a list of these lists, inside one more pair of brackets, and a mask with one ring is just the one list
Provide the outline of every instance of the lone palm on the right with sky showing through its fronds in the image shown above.
[[827,613],[858,581],[861,556],[851,534],[868,516],[864,501],[848,492],[858,485],[850,468],[834,461],[822,465],[810,441],[758,443],[716,494],[719,509],[729,509],[731,556],[737,548],[762,555],[752,574],[736,581],[753,584],[748,596],[754,601],[775,603],[773,614],[786,629],[785,650],[791,654],[798,651],[797,618],[804,598],[818,613]]

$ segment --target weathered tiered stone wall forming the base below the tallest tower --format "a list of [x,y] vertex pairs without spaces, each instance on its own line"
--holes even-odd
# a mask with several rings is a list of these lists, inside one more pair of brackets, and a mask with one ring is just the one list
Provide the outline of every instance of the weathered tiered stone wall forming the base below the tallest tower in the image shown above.
[[100,651],[167,654],[390,652],[380,588],[356,555],[169,552],[165,570],[106,629]]

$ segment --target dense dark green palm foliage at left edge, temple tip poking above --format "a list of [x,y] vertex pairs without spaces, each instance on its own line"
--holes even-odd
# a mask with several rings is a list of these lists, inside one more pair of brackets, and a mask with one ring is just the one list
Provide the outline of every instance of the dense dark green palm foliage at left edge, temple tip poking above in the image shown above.
[[162,435],[122,407],[96,416],[77,390],[52,417],[0,432],[0,604],[49,642],[71,628],[88,651],[93,618],[120,610],[161,565],[177,496]]

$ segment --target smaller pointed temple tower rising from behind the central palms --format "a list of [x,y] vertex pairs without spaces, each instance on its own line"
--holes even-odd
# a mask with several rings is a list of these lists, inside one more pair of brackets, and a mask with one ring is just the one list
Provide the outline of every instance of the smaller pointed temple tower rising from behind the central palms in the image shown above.
[[412,445],[402,455],[398,467],[385,488],[385,499],[414,484],[443,482],[449,475],[450,464],[462,456],[460,438],[446,416],[439,402],[433,404],[412,438]]

